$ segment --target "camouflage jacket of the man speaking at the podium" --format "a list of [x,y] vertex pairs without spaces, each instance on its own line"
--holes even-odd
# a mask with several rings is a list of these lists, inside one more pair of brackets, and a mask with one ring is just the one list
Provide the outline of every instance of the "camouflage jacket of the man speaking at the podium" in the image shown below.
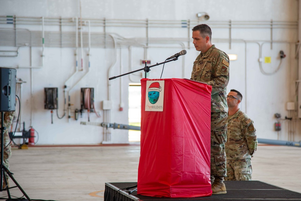
[[191,80],[212,86],[211,112],[228,112],[226,87],[229,82],[229,57],[212,45],[193,62]]

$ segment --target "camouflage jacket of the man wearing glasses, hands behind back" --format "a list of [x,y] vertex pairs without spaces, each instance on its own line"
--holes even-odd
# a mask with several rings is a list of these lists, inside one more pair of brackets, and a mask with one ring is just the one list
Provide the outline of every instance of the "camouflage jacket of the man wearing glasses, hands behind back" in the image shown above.
[[254,122],[240,109],[229,120],[225,143],[227,160],[252,158],[257,149]]

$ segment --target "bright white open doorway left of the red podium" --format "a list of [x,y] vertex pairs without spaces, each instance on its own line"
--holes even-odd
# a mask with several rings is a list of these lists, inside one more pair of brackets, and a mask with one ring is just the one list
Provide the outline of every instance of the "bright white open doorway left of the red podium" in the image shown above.
[[[129,84],[129,125],[141,126],[141,84]],[[129,130],[129,142],[140,142],[140,130]]]

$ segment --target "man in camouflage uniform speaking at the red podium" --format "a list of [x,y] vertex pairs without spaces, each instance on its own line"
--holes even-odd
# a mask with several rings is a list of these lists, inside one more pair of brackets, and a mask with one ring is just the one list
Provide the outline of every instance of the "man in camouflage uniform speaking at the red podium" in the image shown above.
[[229,57],[211,43],[211,29],[200,24],[192,29],[193,44],[201,51],[193,62],[191,80],[212,86],[211,93],[211,185],[212,194],[227,193],[225,142],[227,141],[228,106],[226,87],[229,82]]

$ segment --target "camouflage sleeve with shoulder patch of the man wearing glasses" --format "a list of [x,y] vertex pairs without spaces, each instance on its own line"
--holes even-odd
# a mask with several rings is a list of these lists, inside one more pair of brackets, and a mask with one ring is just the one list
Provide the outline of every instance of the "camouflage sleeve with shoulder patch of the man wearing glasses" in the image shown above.
[[246,138],[247,145],[251,156],[253,157],[257,149],[257,136],[254,123],[251,119],[245,119],[243,123],[243,134]]

